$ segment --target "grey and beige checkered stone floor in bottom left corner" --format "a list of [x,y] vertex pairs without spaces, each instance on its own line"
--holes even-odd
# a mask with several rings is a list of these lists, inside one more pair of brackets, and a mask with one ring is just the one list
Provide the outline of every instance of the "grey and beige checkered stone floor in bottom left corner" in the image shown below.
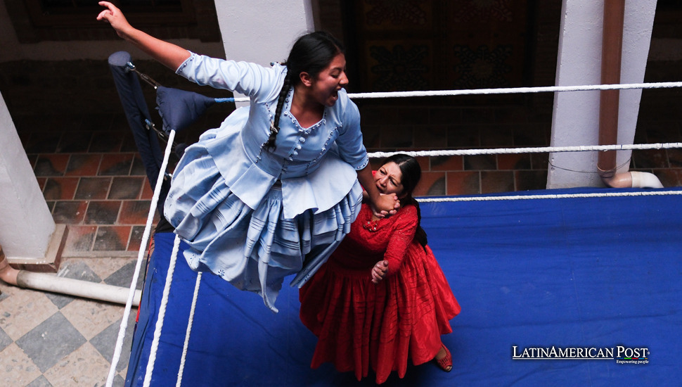
[[[56,275],[129,288],[135,266],[135,258],[67,258]],[[0,386],[105,385],[124,305],[3,281],[0,291]],[[136,312],[130,312],[114,386],[124,385]]]

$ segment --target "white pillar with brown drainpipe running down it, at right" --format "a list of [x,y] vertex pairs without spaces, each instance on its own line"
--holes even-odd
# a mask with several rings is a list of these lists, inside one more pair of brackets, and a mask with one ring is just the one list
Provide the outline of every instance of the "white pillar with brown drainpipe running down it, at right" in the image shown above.
[[[600,84],[604,1],[563,0],[556,83]],[[626,0],[621,83],[640,83],[651,42],[656,0]],[[633,144],[641,89],[620,91],[618,144]],[[599,91],[554,96],[551,146],[597,145]],[[630,151],[619,151],[617,172],[629,169]],[[596,152],[550,153],[547,188],[604,186]]]

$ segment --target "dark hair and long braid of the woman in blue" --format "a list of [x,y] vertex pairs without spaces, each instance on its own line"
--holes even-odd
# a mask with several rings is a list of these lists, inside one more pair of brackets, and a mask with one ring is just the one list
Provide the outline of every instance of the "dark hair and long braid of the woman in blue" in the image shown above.
[[310,32],[296,39],[291,51],[289,51],[289,58],[283,63],[287,66],[287,75],[284,77],[284,84],[279,92],[274,121],[270,125],[270,137],[264,144],[268,151],[275,149],[275,140],[279,132],[279,118],[282,114],[284,101],[289,90],[301,82],[301,72],[307,72],[315,78],[327,68],[335,56],[343,52],[342,44],[327,32]]

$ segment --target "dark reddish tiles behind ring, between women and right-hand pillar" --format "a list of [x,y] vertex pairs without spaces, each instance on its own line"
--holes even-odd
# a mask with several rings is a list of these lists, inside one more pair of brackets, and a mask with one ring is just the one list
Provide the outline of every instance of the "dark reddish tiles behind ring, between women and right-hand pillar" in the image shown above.
[[[385,106],[363,101],[359,107],[369,151],[546,146],[551,131],[546,112],[536,114],[515,103],[462,106],[453,99],[451,104]],[[419,159],[419,196],[544,189],[546,184],[546,153]]]

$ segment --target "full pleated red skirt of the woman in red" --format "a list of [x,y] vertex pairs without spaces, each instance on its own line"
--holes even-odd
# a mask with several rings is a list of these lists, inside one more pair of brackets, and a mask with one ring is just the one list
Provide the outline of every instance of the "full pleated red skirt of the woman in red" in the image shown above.
[[[426,251],[425,251],[426,250]],[[330,259],[300,289],[301,321],[318,338],[312,368],[331,362],[358,380],[405,376],[432,360],[461,308],[430,248],[411,243],[396,274],[371,282],[371,266],[347,269]]]

